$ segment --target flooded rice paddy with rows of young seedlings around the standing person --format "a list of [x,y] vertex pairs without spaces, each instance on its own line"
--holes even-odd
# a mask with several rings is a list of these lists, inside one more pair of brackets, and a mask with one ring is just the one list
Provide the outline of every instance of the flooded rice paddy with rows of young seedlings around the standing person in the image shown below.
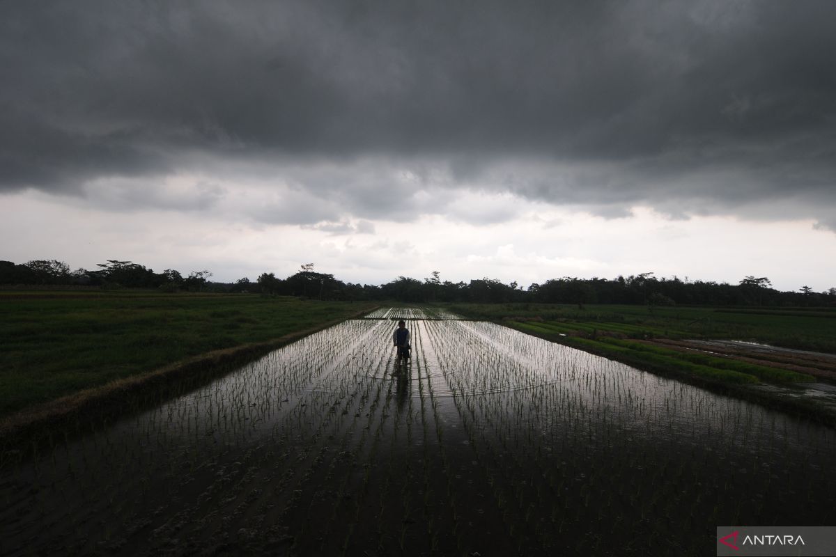
[[0,554],[707,555],[717,525],[836,524],[833,463],[833,429],[392,309],[3,454]]

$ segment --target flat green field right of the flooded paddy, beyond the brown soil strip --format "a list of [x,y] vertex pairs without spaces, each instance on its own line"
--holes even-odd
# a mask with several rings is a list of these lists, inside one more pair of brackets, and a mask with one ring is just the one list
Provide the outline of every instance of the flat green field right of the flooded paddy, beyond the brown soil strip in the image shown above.
[[[609,331],[625,337],[711,338],[836,353],[836,308],[655,307],[560,304],[456,304],[473,319],[539,317],[566,331]],[[564,331],[564,332],[566,332]]]

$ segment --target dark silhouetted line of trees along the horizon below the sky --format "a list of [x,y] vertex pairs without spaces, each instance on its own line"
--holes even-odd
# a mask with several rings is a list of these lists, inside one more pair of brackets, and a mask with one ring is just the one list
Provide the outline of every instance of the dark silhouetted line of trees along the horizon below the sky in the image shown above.
[[646,304],[649,306],[836,306],[836,288],[813,291],[778,291],[765,276],[746,276],[737,284],[714,281],[682,281],[656,277],[652,272],[606,278],[564,276],[528,287],[482,278],[468,282],[442,281],[439,271],[423,280],[399,276],[380,286],[340,281],[334,275],[314,271],[306,263],[286,278],[265,272],[251,281],[210,281],[212,272],[174,269],[155,272],[132,261],[108,260],[94,270],[70,271],[64,261],[33,260],[23,264],[0,261],[0,284],[53,285],[99,288],[144,288],[159,291],[259,293],[265,296],[301,296],[319,300],[405,302],[543,302],[585,304]]

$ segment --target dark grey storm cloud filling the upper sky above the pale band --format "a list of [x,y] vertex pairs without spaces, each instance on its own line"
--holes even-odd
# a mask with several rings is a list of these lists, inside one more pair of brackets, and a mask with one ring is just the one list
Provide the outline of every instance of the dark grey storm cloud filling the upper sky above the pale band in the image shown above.
[[602,214],[792,198],[832,225],[834,17],[827,1],[3,3],[0,187],[309,160],[303,188],[342,187],[370,217],[404,195],[340,165],[421,175],[414,159],[448,188]]

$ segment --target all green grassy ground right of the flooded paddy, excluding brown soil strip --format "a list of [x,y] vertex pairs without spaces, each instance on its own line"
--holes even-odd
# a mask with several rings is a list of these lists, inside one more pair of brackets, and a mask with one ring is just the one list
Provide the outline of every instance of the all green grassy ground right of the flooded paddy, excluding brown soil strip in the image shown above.
[[[689,352],[653,342],[706,338],[747,340],[780,347],[836,353],[836,310],[818,308],[753,310],[714,307],[560,306],[551,304],[462,304],[451,311],[611,357],[651,371],[708,382],[810,382],[804,372],[775,362],[742,361]],[[650,342],[649,342],[650,341]]]

